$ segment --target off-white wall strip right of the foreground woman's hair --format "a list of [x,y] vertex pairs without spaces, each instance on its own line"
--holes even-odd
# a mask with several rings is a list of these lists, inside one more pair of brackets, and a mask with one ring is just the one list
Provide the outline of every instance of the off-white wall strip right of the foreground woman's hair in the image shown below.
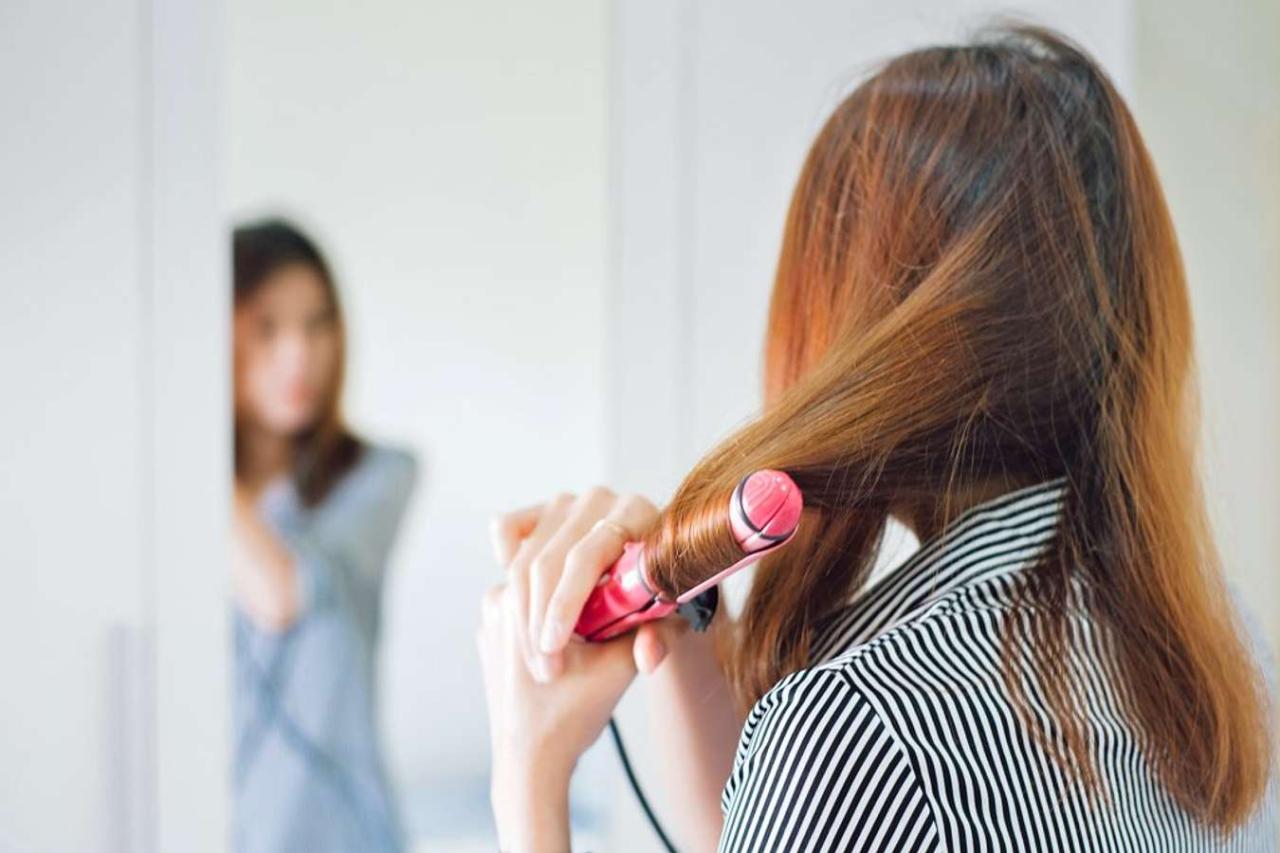
[[1280,5],[1142,0],[1134,111],[1187,263],[1204,482],[1228,574],[1280,646]]

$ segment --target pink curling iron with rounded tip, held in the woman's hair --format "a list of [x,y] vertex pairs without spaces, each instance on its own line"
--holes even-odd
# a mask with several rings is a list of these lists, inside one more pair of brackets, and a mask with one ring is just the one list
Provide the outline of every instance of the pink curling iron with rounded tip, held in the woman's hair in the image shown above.
[[689,619],[695,630],[704,630],[716,615],[717,584],[786,544],[800,524],[803,507],[804,498],[790,476],[755,471],[737,484],[728,501],[728,524],[742,548],[741,560],[669,601],[654,592],[645,576],[644,546],[628,542],[622,556],[600,575],[573,631],[598,643],[673,611]]

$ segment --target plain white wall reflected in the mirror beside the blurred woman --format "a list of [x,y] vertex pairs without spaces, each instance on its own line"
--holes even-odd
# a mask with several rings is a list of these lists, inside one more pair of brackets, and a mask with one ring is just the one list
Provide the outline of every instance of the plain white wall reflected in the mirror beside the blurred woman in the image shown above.
[[352,420],[422,462],[387,589],[381,716],[428,830],[488,792],[488,519],[604,474],[604,15],[230,3],[233,209],[314,229],[351,320]]

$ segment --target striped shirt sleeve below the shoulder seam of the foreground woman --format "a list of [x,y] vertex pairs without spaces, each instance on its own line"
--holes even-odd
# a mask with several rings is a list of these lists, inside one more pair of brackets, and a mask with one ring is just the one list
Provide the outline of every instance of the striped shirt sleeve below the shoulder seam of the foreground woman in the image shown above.
[[893,839],[911,839],[913,849],[937,844],[911,760],[840,667],[794,672],[756,703],[721,806],[721,849],[877,850]]

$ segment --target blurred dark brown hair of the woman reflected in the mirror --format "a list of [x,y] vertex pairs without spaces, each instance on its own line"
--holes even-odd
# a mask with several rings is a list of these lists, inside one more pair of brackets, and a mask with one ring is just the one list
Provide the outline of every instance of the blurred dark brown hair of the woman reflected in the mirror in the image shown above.
[[[265,219],[236,228],[232,236],[232,282],[234,305],[253,296],[271,275],[285,266],[305,265],[315,272],[325,289],[338,329],[338,359],[333,380],[320,402],[315,423],[293,438],[293,485],[305,506],[320,503],[357,461],[361,443],[342,418],[342,387],[346,375],[346,324],[329,264],[315,242],[283,219]],[[243,441],[236,414],[236,474],[244,466]]]

